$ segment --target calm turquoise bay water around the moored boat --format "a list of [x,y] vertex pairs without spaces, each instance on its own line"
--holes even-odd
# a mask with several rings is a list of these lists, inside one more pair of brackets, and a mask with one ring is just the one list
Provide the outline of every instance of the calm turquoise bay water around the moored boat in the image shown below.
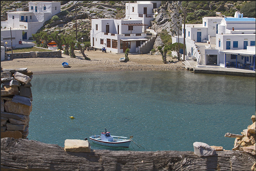
[[[187,71],[121,71],[34,75],[29,140],[58,144],[100,135],[133,136],[138,148],[194,151],[196,141],[233,148],[252,123],[255,78]],[[69,118],[70,116],[75,119]]]

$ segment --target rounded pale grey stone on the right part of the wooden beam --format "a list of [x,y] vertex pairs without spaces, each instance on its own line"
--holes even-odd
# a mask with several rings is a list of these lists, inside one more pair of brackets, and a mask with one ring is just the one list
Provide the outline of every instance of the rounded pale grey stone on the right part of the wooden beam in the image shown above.
[[194,146],[194,154],[199,157],[213,156],[214,154],[216,154],[216,151],[206,143],[194,142],[193,146]]

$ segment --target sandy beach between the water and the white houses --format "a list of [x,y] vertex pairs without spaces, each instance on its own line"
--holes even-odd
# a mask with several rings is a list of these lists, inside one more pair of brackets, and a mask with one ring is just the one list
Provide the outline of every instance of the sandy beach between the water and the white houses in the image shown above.
[[[129,62],[119,62],[124,54],[104,53],[101,50],[85,51],[91,60],[85,60],[79,50],[75,50],[76,58],[62,54],[62,58],[20,58],[4,60],[1,66],[4,69],[24,68],[34,74],[44,73],[73,73],[90,71],[114,70],[184,70],[184,64],[177,59],[167,57],[170,64],[162,62],[161,55],[129,54]],[[62,62],[68,62],[69,68],[62,67]]]

